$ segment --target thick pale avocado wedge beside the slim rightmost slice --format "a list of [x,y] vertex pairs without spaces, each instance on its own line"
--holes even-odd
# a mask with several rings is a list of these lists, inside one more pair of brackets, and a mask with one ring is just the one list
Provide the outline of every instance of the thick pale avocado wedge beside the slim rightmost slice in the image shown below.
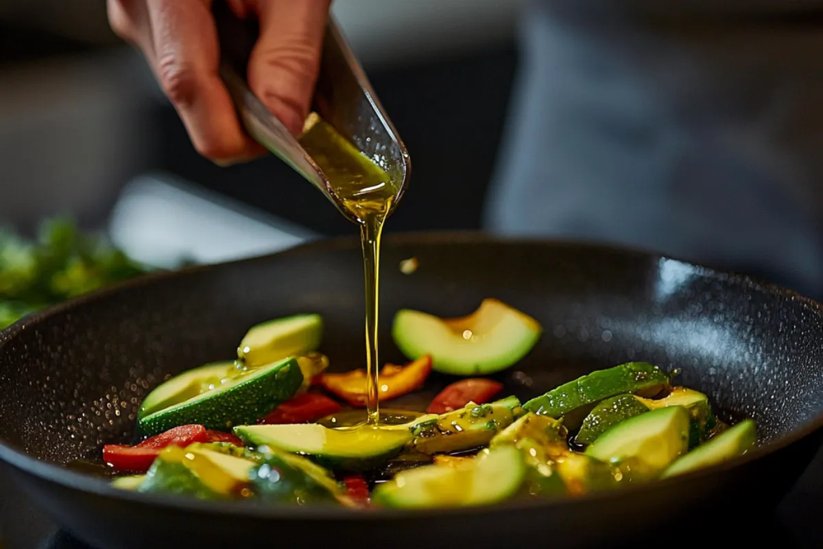
[[631,480],[647,480],[686,454],[689,422],[689,412],[680,406],[646,412],[612,426],[586,455],[620,467]]

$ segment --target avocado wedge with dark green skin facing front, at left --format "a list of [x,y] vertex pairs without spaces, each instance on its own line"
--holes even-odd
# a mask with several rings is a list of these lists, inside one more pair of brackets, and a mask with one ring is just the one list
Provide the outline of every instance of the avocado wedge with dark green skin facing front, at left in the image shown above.
[[151,436],[192,423],[214,430],[253,423],[291,398],[302,383],[294,358],[238,370],[215,388],[138,418],[137,430]]

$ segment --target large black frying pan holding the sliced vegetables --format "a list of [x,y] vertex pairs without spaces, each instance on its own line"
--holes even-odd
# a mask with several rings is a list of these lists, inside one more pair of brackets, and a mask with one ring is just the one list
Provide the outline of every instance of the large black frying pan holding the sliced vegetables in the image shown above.
[[[403,275],[398,263],[412,256],[420,268]],[[95,547],[614,547],[655,528],[700,540],[732,511],[770,508],[821,442],[823,313],[789,291],[650,254],[477,235],[387,238],[381,288],[384,361],[402,361],[388,337],[396,309],[457,316],[494,296],[546,329],[532,353],[500,375],[510,392],[530,398],[591,370],[650,361],[682,370],[681,383],[708,393],[725,419],[754,417],[765,447],[723,467],[604,495],[420,512],[132,494],[61,467],[96,458],[101,444],[131,440],[139,402],[164,375],[230,359],[246,329],[264,319],[319,312],[334,368],[361,367],[360,249],[356,240],[332,240],[130,281],[7,329],[0,458],[44,509]],[[432,377],[428,396],[449,381]]]

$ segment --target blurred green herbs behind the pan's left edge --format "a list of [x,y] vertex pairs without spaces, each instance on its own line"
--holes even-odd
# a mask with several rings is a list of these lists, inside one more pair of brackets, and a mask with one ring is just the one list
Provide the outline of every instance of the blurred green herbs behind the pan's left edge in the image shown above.
[[49,305],[149,269],[74,221],[44,221],[35,240],[0,230],[0,328]]

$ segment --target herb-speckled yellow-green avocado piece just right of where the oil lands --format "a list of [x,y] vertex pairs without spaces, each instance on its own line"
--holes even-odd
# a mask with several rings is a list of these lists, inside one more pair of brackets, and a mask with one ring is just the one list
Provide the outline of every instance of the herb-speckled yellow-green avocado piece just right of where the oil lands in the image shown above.
[[466,407],[439,416],[425,416],[412,426],[412,446],[421,454],[441,454],[489,444],[500,430],[514,422],[520,407],[516,397],[490,404],[469,402]]

